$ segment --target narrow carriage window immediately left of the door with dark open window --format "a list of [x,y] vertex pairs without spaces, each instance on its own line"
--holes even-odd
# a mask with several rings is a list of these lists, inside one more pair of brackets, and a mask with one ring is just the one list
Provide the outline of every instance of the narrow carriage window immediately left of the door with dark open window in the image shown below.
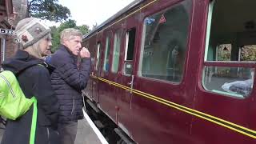
[[114,50],[113,50],[113,60],[112,60],[112,72],[118,72],[119,56],[121,47],[121,31],[118,30],[114,34]]

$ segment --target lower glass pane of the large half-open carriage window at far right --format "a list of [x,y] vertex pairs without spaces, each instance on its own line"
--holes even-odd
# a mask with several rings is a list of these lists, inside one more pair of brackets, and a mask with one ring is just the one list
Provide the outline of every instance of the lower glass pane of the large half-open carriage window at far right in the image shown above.
[[248,96],[254,84],[254,69],[205,66],[203,86],[206,90],[236,98]]

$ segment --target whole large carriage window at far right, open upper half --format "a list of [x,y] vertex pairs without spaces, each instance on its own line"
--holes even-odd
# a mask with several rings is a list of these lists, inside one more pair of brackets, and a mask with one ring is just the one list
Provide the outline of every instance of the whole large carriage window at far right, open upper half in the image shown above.
[[250,95],[256,64],[255,5],[254,0],[210,2],[205,51],[208,64],[202,75],[205,90],[234,98]]

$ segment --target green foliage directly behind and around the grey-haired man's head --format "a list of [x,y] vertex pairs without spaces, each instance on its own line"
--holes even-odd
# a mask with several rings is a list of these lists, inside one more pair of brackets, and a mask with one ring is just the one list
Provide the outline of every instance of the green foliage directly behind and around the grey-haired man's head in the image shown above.
[[82,31],[82,34],[86,34],[88,33],[89,30],[89,26],[86,25],[82,25],[82,26],[76,26],[76,22],[72,19],[69,19],[66,22],[63,22],[60,26],[56,27],[56,26],[52,26],[50,27],[51,32],[52,32],[52,51],[56,51],[58,50],[58,46],[60,45],[60,34],[62,32],[62,30],[67,29],[67,28],[75,28],[78,30]]

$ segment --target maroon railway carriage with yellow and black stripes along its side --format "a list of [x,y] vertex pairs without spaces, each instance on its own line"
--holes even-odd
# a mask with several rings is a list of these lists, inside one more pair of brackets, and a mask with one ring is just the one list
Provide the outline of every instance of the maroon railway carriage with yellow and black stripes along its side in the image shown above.
[[256,143],[255,6],[126,6],[84,36],[93,63],[84,94],[94,115],[107,115],[136,143]]

